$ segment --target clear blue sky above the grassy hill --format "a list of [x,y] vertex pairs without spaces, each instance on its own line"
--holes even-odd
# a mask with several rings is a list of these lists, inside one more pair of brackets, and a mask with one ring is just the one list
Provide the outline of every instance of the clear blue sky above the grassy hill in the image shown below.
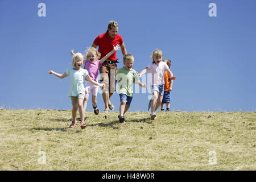
[[[46,17],[38,4],[46,4]],[[210,17],[209,3],[217,16]],[[170,110],[255,111],[256,1],[0,1],[0,107],[71,109],[69,55],[84,53],[116,20],[118,34],[141,72],[156,48],[177,76]],[[122,68],[122,53],[117,56]],[[147,94],[134,94],[130,111],[146,111]],[[86,110],[93,110],[91,96]],[[119,96],[112,97],[118,111]],[[98,107],[104,110],[101,94]]]

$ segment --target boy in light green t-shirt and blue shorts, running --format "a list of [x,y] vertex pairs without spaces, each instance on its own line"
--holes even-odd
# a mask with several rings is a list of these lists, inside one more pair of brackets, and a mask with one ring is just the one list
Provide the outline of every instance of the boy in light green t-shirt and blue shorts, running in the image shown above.
[[136,83],[143,88],[146,88],[146,84],[142,84],[139,81],[137,73],[133,68],[134,57],[131,54],[126,54],[123,56],[123,68],[118,69],[117,74],[115,74],[115,84],[118,81],[118,90],[120,97],[120,107],[119,107],[119,122],[125,122],[125,117],[123,116],[131,105],[131,100],[133,100],[133,84]]

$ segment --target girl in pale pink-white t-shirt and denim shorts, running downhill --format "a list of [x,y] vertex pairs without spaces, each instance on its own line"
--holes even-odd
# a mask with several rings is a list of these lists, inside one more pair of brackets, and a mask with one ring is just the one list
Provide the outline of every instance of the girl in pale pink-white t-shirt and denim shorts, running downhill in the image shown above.
[[[139,73],[139,76],[144,75],[147,71],[151,74],[151,90],[152,90],[152,99],[151,99],[151,113],[150,119],[154,120],[156,118],[155,111],[158,109],[163,100],[164,92],[164,72],[166,71],[170,76],[171,82],[175,80],[176,77],[172,74],[168,65],[162,61],[163,52],[160,49],[156,49],[151,58],[153,62],[148,64],[145,69]],[[157,102],[156,102],[157,100]]]

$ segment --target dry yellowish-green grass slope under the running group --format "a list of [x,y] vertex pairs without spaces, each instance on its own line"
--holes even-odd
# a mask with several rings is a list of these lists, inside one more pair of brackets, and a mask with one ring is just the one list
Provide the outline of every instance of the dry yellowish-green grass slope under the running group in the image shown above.
[[[0,110],[0,170],[255,170],[255,112]],[[105,118],[106,115],[106,118]],[[45,152],[46,163],[42,164]],[[210,164],[210,151],[216,164]],[[41,163],[40,163],[41,161]]]

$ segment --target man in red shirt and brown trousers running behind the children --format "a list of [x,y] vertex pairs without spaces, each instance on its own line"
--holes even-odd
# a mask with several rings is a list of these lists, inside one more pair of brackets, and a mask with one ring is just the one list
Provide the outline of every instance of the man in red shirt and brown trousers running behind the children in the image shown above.
[[[123,38],[121,35],[117,34],[118,23],[115,21],[110,21],[108,25],[108,30],[94,40],[92,47],[96,48],[98,46],[98,52],[101,53],[101,57],[106,56],[110,51],[113,50],[113,45],[120,45],[123,56],[127,54],[125,43],[123,43]],[[115,73],[117,73],[117,52],[114,52],[111,56],[100,67],[100,74],[102,83],[105,83],[105,89],[102,90],[102,97],[105,103],[105,111],[113,110],[114,106],[109,101],[109,98],[115,92]]]

